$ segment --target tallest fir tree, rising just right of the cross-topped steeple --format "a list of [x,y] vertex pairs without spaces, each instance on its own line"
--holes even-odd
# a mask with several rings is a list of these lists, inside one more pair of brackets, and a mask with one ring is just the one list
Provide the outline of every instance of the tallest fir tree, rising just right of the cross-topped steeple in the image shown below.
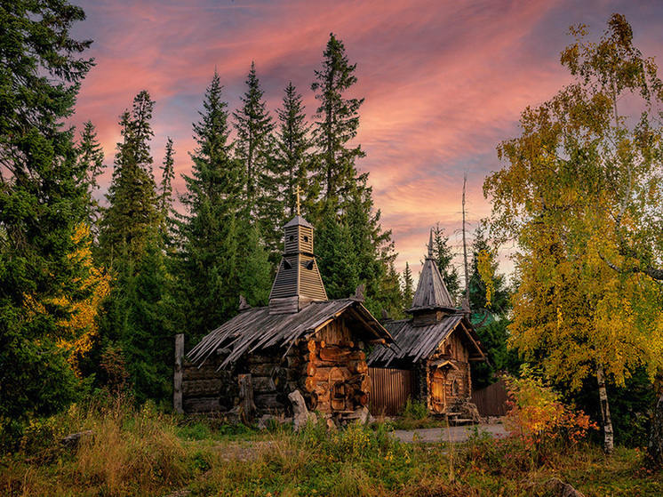
[[[324,189],[315,212],[322,218],[316,219],[321,227],[316,244],[320,270],[325,285],[331,285],[330,298],[347,297],[363,284],[367,307],[379,315],[381,309],[394,309],[398,285],[390,273],[395,260],[391,231],[380,227],[380,212],[374,210],[372,190],[366,186],[368,174],[359,174],[355,167],[363,151],[349,144],[356,137],[363,103],[345,96],[356,83],[356,64],[349,63],[345,46],[333,34],[323,56],[323,68],[316,70],[317,81],[311,86],[320,102],[313,128],[313,179]],[[394,292],[383,294],[387,288]]]

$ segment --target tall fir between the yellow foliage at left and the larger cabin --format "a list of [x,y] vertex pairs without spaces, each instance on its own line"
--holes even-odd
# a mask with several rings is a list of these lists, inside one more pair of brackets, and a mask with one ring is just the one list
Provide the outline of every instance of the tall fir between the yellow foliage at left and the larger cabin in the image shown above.
[[113,281],[95,353],[99,364],[109,350],[121,354],[139,401],[169,396],[163,363],[169,360],[173,334],[171,306],[164,304],[172,302],[167,285],[171,278],[150,152],[153,108],[149,93],[142,91],[132,111],[120,116],[123,141],[117,144],[100,231],[100,256],[112,269]]

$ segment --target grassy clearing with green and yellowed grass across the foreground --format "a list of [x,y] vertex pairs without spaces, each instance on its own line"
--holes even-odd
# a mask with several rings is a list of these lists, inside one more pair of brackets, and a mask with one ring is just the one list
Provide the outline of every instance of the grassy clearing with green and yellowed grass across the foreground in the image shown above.
[[[67,433],[92,429],[77,449]],[[532,453],[476,432],[463,445],[402,444],[385,423],[328,432],[257,432],[164,415],[154,408],[74,406],[32,423],[0,458],[0,495],[539,496],[551,477],[587,497],[663,495],[637,450],[606,459],[594,445]]]

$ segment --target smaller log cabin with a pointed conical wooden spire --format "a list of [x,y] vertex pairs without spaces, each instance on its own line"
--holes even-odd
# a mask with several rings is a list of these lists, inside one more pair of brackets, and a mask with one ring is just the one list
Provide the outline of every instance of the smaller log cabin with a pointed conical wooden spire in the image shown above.
[[[382,321],[393,336],[395,347],[371,352],[371,372],[377,376],[385,373],[379,370],[389,370],[396,378],[403,376],[399,372],[413,373],[410,396],[427,405],[431,413],[450,413],[458,401],[471,400],[470,362],[486,360],[487,351],[444,285],[433,258],[432,232],[419,284],[407,312],[412,315],[410,319]],[[376,388],[389,388],[388,384],[379,385],[376,382]],[[384,394],[374,391],[378,403],[387,397]],[[407,392],[401,397],[403,404],[405,397]]]

